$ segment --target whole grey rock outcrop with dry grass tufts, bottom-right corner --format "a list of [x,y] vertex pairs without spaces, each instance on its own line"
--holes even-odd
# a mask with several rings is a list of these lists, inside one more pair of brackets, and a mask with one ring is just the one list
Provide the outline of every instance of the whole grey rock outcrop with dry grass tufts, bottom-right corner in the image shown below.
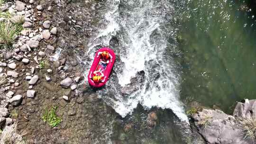
[[218,109],[201,109],[191,114],[191,125],[208,144],[255,144],[256,100],[238,102],[233,115]]

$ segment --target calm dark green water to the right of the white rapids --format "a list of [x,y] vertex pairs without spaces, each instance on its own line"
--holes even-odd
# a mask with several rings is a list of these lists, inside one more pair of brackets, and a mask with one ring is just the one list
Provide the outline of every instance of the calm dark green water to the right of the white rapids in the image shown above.
[[182,99],[228,113],[255,99],[256,19],[246,2],[192,0],[180,10]]

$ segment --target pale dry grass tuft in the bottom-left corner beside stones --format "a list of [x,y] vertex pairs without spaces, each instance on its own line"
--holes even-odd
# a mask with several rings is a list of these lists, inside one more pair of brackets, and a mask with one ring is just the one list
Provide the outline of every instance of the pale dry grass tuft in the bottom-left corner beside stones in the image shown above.
[[25,131],[18,132],[17,123],[11,126],[5,126],[0,136],[0,144],[27,144],[22,138],[27,133]]

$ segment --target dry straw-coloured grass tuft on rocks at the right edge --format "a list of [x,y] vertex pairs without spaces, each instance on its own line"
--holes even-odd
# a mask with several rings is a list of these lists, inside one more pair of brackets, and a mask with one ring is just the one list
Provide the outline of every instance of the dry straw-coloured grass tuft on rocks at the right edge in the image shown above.
[[255,141],[256,139],[256,118],[241,118],[239,120],[243,128],[244,138]]

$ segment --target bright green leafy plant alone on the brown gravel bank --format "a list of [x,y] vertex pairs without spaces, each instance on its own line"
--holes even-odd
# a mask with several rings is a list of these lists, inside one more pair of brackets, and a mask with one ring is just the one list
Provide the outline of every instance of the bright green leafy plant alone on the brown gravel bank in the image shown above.
[[45,114],[43,115],[42,119],[44,122],[47,122],[49,126],[55,127],[58,126],[61,122],[61,118],[57,116],[56,109],[58,107],[52,107],[46,110]]

